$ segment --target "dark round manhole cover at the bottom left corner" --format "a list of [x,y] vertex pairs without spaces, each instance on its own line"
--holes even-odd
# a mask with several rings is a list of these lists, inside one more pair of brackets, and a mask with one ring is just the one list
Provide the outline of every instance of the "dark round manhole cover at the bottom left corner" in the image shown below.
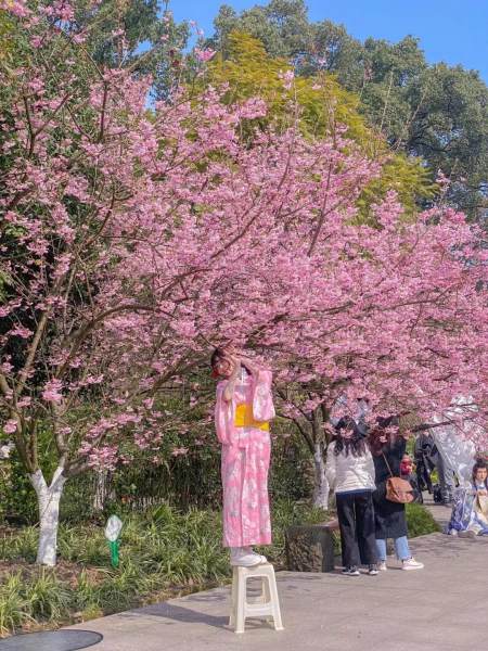
[[103,639],[92,630],[46,630],[15,635],[0,640],[1,651],[76,651],[98,644]]

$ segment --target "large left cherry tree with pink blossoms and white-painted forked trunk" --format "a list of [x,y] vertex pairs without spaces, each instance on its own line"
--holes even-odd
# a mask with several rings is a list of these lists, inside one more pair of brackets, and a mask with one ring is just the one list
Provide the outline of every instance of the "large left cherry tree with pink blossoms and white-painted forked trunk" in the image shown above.
[[[3,430],[38,495],[38,562],[53,564],[65,482],[128,461],[130,443],[157,446],[154,394],[208,342],[283,318],[299,237],[286,222],[312,206],[298,150],[308,165],[371,170],[330,142],[313,153],[293,129],[244,145],[258,99],[227,107],[211,89],[198,104],[180,92],[149,112],[151,79],[101,68],[68,3],[5,7],[28,47],[3,128]],[[38,461],[46,426],[52,477]]]

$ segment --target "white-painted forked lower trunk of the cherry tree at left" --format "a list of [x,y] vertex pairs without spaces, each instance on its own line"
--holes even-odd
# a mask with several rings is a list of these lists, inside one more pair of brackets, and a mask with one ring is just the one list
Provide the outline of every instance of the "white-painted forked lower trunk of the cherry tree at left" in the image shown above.
[[37,494],[39,509],[39,546],[36,563],[54,566],[56,564],[57,527],[60,523],[60,499],[66,477],[63,468],[56,468],[48,486],[41,470],[29,475]]

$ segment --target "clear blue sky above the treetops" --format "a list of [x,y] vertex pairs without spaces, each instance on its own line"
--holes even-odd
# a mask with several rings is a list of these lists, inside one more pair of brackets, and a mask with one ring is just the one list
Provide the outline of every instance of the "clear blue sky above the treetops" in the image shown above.
[[[266,0],[227,0],[236,11]],[[221,0],[171,0],[178,21],[193,20],[213,33]],[[411,34],[420,38],[431,63],[461,63],[478,69],[488,81],[488,0],[308,0],[311,21],[343,23],[349,34],[398,41]]]

